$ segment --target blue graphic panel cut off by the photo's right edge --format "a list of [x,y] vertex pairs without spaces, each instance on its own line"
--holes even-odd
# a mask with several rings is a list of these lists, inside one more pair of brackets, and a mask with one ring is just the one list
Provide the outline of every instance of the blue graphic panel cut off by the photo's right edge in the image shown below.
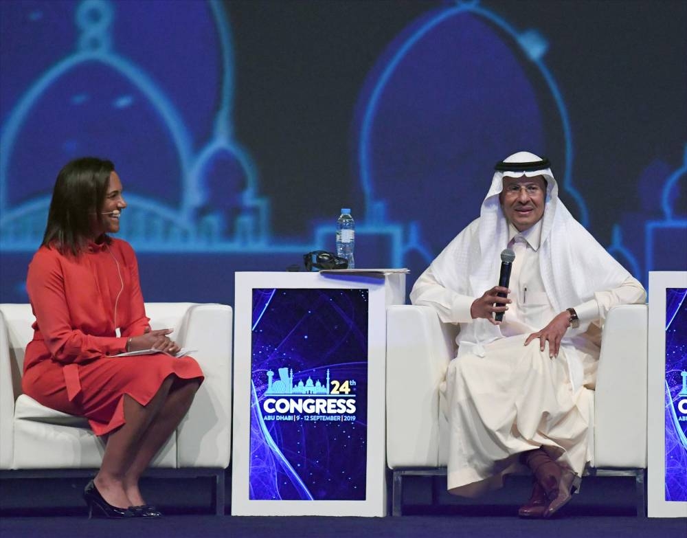
[[666,501],[687,501],[687,289],[666,289]]

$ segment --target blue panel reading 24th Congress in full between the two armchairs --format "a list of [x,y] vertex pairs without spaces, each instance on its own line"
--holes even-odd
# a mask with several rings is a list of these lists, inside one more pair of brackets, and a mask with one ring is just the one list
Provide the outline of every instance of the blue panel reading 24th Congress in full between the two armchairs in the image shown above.
[[254,289],[251,500],[365,500],[368,290]]

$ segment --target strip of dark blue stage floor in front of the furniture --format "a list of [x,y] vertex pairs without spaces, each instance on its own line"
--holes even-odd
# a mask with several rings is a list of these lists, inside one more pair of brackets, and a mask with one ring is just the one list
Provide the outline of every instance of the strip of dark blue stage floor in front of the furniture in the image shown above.
[[159,521],[109,522],[85,517],[3,518],[3,538],[73,537],[684,537],[687,524],[675,519],[573,516],[550,521],[511,517],[404,516],[360,517],[214,517],[172,515]]

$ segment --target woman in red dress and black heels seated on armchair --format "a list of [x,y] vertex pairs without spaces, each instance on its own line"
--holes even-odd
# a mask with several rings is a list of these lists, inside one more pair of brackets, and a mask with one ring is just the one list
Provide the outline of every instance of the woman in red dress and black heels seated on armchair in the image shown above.
[[[58,174],[26,287],[36,322],[22,388],[39,403],[85,416],[106,439],[86,486],[90,515],[159,517],[139,478],[188,411],[203,372],[176,358],[170,329],[150,330],[136,256],[118,232],[126,202],[110,161],[85,157]],[[122,352],[156,349],[133,357]]]

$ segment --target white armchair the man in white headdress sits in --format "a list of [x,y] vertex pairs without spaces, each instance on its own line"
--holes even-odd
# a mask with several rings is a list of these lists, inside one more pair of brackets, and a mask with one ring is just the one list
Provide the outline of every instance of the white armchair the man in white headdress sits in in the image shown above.
[[[645,304],[611,309],[603,329],[589,436],[593,475],[635,476],[644,515],[646,469]],[[439,383],[455,356],[453,324],[429,306],[387,308],[387,465],[393,471],[392,513],[401,515],[404,475],[445,475],[448,424]]]

